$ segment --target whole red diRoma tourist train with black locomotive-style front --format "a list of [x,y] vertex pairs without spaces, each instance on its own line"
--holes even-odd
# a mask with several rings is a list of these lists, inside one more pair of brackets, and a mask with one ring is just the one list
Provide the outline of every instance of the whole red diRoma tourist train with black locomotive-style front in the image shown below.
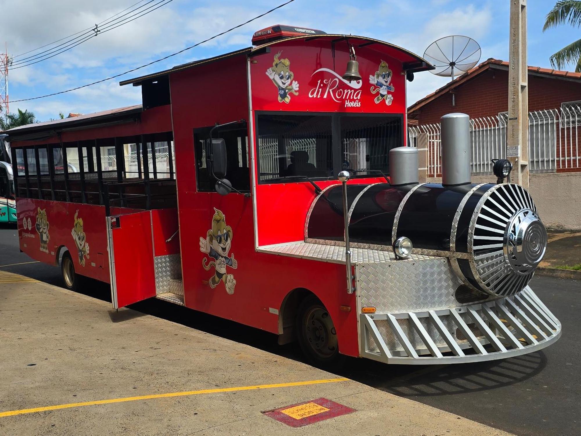
[[142,105],[8,131],[21,251],[67,288],[110,283],[114,308],[164,299],[317,363],[471,362],[560,337],[528,286],[544,226],[518,185],[470,183],[467,116],[442,120],[443,183],[418,183],[406,80],[429,63],[290,26],[253,42],[122,82]]

